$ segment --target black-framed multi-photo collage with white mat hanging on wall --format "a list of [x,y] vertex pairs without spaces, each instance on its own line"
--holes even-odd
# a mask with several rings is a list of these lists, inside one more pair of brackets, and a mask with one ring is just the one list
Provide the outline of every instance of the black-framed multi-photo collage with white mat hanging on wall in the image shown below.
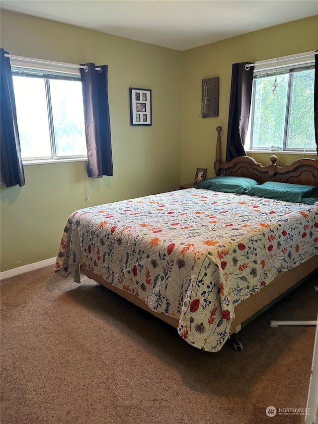
[[152,119],[152,92],[148,88],[129,88],[130,125],[150,126]]

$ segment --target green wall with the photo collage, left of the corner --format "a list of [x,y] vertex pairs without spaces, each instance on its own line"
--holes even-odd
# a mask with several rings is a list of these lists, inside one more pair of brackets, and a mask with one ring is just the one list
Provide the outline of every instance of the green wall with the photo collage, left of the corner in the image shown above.
[[[88,180],[84,162],[29,165],[23,187],[1,185],[5,271],[54,257],[79,208],[177,189],[182,52],[6,10],[0,24],[1,47],[11,55],[108,65],[114,165],[113,177]],[[152,126],[130,126],[129,87],[152,89]]]

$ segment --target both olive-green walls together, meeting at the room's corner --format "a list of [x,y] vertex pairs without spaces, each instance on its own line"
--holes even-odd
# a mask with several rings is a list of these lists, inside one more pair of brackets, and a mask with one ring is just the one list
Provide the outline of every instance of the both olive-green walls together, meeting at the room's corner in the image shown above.
[[[113,177],[87,179],[83,162],[34,165],[24,187],[1,186],[1,271],[54,257],[79,208],[174,190],[193,182],[197,167],[213,176],[218,125],[226,146],[232,64],[318,48],[318,16],[185,52],[5,10],[0,23],[12,55],[109,66],[114,161]],[[201,80],[211,77],[220,78],[219,116],[201,118]],[[152,89],[152,127],[130,126],[131,86]],[[277,156],[280,165],[300,157]],[[266,165],[270,154],[253,157]]]

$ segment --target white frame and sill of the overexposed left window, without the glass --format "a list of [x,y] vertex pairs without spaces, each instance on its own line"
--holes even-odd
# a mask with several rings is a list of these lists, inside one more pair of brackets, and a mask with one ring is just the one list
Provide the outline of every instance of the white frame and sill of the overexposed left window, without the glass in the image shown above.
[[52,102],[51,102],[50,80],[80,82],[81,78],[80,78],[79,72],[70,72],[69,70],[52,71],[49,69],[35,68],[34,66],[29,67],[26,65],[12,65],[12,64],[11,64],[11,72],[12,72],[12,77],[26,76],[28,78],[36,78],[36,79],[43,80],[44,86],[45,86],[51,156],[22,158],[22,164],[23,165],[40,165],[40,164],[48,164],[48,163],[87,161],[87,153],[84,155],[57,156],[56,144],[55,144],[55,131],[54,131],[54,124],[53,124]]

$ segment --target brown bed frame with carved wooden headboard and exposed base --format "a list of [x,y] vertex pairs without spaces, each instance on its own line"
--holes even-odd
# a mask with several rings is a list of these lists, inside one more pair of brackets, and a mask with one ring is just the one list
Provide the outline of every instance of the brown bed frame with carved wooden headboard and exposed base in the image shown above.
[[[217,127],[218,137],[216,146],[216,159],[214,169],[216,175],[235,175],[253,178],[260,183],[265,181],[280,181],[289,182],[294,184],[307,184],[318,186],[318,161],[315,159],[298,159],[291,165],[279,167],[277,156],[273,155],[270,158],[271,164],[262,166],[248,156],[239,156],[231,162],[222,163],[221,160],[221,131],[222,127]],[[169,317],[164,314],[152,311],[147,305],[138,297],[130,292],[121,290],[116,286],[105,281],[102,277],[93,274],[91,271],[80,266],[82,274],[95,280],[101,286],[107,287],[109,290],[117,293],[119,296],[124,297],[140,308],[155,315],[160,320],[170,324],[171,326],[178,327],[178,319]],[[248,323],[278,302],[280,299],[286,297],[292,290],[302,284],[305,280],[311,277],[318,271],[318,256],[314,256],[301,265],[289,271],[280,272],[276,278],[267,284],[252,296],[249,296],[244,301],[240,302],[235,307],[236,319],[231,324],[231,335],[234,337],[233,345],[236,350],[241,350],[242,345],[239,342],[239,332]]]

